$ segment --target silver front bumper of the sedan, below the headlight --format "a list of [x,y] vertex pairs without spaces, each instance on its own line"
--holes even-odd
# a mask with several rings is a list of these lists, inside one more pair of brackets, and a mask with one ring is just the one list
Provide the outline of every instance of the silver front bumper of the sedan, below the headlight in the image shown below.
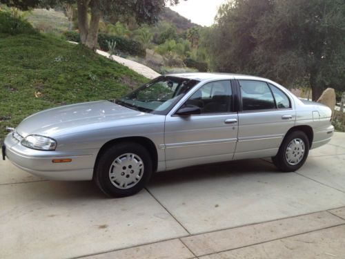
[[[37,151],[22,146],[12,134],[7,135],[4,146],[8,160],[33,175],[50,180],[92,180],[96,150]],[[63,158],[70,158],[72,162],[52,162]]]

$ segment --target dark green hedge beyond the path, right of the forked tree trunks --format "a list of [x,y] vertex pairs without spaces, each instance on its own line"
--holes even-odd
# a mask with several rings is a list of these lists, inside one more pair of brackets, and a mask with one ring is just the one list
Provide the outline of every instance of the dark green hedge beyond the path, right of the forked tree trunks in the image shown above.
[[106,35],[103,33],[100,33],[98,35],[98,43],[101,47],[101,50],[109,50],[107,41],[115,41],[117,50],[120,50],[121,52],[139,57],[146,56],[146,50],[144,46],[138,41],[133,41],[132,39],[124,39],[118,36]]

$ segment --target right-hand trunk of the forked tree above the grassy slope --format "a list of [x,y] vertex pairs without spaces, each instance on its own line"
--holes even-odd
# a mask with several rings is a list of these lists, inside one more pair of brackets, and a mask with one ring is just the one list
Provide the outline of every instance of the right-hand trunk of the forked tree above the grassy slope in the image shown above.
[[97,46],[99,19],[101,19],[101,11],[98,5],[99,1],[97,0],[91,2],[91,20],[85,44],[88,48],[92,48],[93,50],[95,50]]

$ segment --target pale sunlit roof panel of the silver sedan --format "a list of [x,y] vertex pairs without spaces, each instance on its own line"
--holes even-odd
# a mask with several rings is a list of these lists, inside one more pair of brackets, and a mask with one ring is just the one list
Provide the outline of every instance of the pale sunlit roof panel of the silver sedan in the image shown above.
[[186,79],[194,79],[197,81],[206,81],[209,79],[252,79],[252,80],[264,80],[268,81],[268,79],[262,77],[255,77],[253,75],[239,75],[239,74],[231,74],[231,73],[177,73],[177,74],[168,74],[167,76],[170,77],[182,77]]

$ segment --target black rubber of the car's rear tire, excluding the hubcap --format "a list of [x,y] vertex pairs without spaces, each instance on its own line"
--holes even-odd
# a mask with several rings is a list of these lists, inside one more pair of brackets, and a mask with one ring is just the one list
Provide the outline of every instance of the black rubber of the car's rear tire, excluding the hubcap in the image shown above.
[[[292,140],[297,139],[297,138],[303,140],[304,142],[304,146],[305,146],[304,157],[298,164],[295,164],[295,165],[288,164],[288,162],[286,161],[286,148],[288,148],[288,144],[290,144]],[[273,162],[275,166],[277,166],[280,170],[284,172],[293,172],[293,171],[298,170],[299,168],[301,168],[301,166],[303,166],[304,162],[306,162],[306,159],[309,153],[309,146],[310,144],[309,144],[308,137],[306,136],[306,133],[304,133],[303,131],[293,131],[288,136],[286,136],[286,138],[284,139],[284,142],[279,148],[277,155],[273,157]]]

